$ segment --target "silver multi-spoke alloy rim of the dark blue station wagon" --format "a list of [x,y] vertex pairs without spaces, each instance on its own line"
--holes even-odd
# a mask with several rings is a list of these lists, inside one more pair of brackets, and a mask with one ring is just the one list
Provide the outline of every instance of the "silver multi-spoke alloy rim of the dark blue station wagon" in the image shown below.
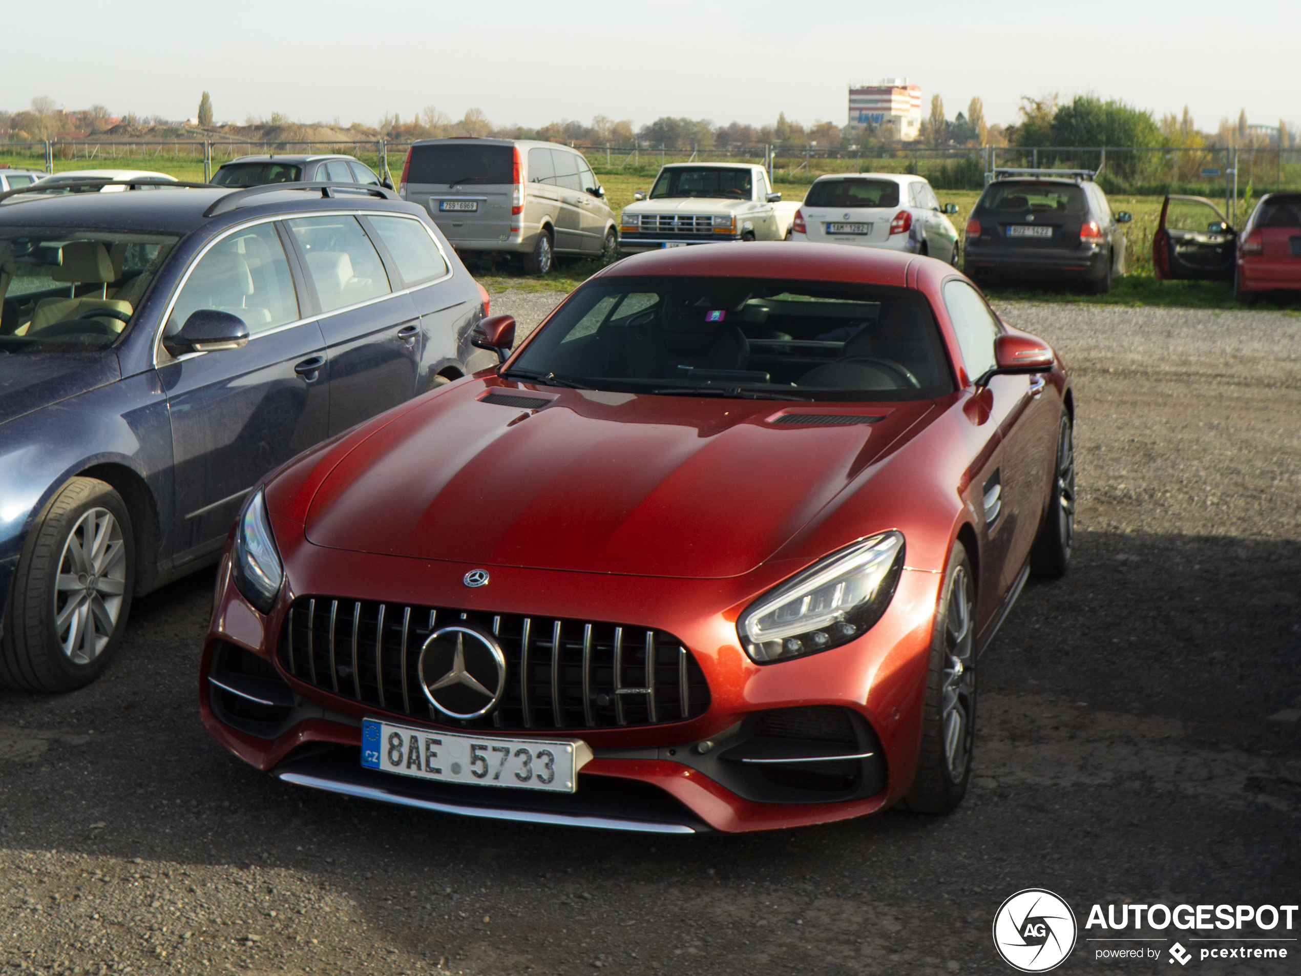
[[90,664],[108,647],[125,590],[122,527],[108,509],[90,509],[68,534],[55,586],[55,634],[73,664]]

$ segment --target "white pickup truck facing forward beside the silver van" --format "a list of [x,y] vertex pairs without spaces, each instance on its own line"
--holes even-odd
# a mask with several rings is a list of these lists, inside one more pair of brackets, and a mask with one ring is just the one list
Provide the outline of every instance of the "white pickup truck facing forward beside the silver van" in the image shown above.
[[785,241],[799,203],[782,203],[762,167],[673,163],[619,219],[626,252],[718,241]]

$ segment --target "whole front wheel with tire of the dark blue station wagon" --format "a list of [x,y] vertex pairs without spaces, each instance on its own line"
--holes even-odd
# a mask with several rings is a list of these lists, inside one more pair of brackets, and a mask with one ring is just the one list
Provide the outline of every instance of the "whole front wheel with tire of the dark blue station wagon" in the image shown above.
[[122,497],[98,479],[73,478],[23,545],[0,640],[0,685],[47,692],[90,685],[122,640],[134,591],[135,539]]

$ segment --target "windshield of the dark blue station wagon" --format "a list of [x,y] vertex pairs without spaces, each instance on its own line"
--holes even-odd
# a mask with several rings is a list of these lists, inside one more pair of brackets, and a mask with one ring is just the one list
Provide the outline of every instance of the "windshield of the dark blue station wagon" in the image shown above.
[[0,353],[83,353],[126,331],[174,237],[0,229]]

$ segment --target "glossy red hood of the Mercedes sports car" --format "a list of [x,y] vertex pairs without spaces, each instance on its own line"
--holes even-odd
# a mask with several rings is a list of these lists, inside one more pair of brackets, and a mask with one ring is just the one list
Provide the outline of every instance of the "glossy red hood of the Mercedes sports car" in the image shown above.
[[[446,388],[307,479],[319,547],[657,576],[747,573],[787,541],[930,401],[864,407],[543,388],[531,413],[481,402],[532,390]],[[787,413],[873,423],[773,423]],[[342,457],[340,457],[342,455]],[[306,485],[307,481],[303,484]]]

